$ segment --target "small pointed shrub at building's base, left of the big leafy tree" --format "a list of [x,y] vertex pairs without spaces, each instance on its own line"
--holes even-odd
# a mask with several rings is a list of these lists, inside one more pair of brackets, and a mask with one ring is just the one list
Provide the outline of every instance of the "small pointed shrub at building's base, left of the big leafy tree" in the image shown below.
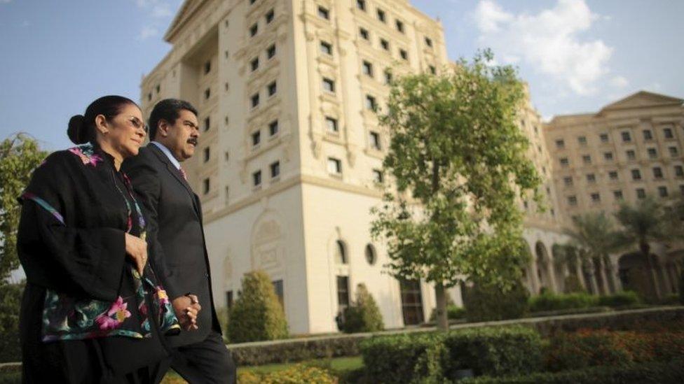
[[383,315],[375,300],[368,292],[366,285],[360,283],[356,288],[356,299],[345,309],[342,332],[376,332],[385,329]]

